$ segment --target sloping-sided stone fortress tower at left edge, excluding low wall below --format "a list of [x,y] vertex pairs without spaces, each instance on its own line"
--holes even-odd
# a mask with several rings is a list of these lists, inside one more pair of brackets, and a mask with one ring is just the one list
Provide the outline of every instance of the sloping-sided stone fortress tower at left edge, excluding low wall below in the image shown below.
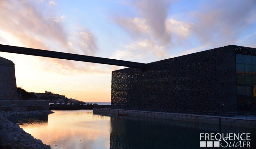
[[0,100],[18,100],[14,63],[0,57]]

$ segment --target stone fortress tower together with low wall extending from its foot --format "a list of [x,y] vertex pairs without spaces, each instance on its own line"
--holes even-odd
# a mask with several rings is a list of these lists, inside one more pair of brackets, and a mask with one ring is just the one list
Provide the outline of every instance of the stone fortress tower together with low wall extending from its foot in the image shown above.
[[49,110],[49,101],[19,99],[14,63],[8,59],[0,57],[0,110]]

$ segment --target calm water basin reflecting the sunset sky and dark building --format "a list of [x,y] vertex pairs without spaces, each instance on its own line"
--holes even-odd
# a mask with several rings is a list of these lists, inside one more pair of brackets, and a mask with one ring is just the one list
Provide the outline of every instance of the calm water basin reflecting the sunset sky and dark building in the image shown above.
[[[129,116],[93,115],[92,110],[53,111],[50,115],[8,117],[52,149],[200,148],[200,133],[251,133],[255,130]],[[214,147],[216,148],[216,147]]]

